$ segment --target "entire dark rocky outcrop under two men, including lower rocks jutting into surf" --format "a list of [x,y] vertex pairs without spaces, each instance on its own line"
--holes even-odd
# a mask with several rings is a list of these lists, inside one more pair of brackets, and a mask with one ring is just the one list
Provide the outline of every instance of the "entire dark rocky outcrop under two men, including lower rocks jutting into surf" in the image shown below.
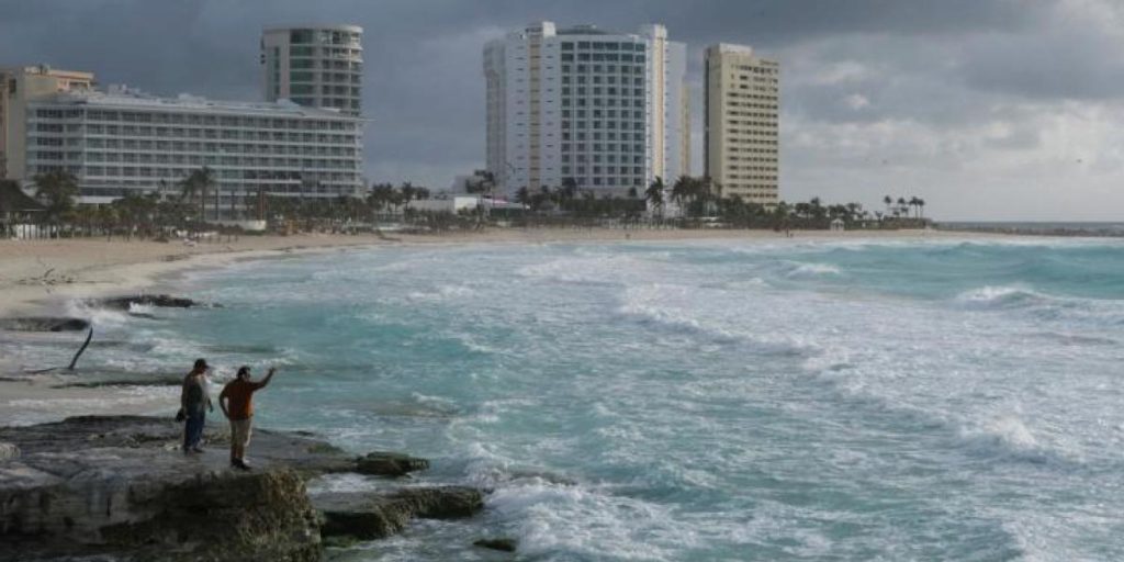
[[[262,429],[243,472],[228,466],[225,428],[210,428],[201,454],[181,453],[180,436],[173,420],[139,416],[0,428],[0,562],[310,562],[414,518],[483,509],[482,490],[404,479],[428,468],[423,459],[356,457],[311,434]],[[380,480],[309,493],[309,480],[338,473]]]

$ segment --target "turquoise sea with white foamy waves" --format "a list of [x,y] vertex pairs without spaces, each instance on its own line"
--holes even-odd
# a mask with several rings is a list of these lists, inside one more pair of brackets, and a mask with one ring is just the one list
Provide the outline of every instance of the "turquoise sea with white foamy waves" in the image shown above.
[[399,247],[183,289],[225,308],[103,319],[144,353],[91,361],[275,363],[260,424],[495,489],[348,560],[1124,558],[1124,243]]

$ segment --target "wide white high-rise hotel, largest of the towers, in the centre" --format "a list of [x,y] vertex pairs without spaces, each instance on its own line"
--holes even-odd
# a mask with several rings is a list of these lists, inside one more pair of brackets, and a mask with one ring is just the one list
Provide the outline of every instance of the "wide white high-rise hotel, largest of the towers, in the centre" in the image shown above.
[[483,55],[488,170],[501,190],[642,192],[689,172],[686,47],[663,26],[622,34],[541,21]]

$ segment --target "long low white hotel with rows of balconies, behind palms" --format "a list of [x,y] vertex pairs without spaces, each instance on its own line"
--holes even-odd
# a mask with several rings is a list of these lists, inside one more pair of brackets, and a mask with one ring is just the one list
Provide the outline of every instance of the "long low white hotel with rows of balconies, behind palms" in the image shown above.
[[364,187],[361,121],[338,111],[114,88],[40,96],[27,100],[24,116],[26,134],[7,139],[25,154],[9,178],[64,170],[87,203],[128,192],[179,193],[178,183],[205,166],[225,218],[261,196],[357,197]]

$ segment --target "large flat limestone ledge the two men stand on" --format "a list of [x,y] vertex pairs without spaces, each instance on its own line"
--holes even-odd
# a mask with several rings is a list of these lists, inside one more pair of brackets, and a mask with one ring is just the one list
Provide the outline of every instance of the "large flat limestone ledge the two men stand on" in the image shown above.
[[[208,429],[212,446],[228,433],[215,422]],[[0,428],[0,442],[21,451],[0,461],[0,561],[319,560],[305,477],[347,470],[353,459],[323,441],[261,430],[255,470],[242,472],[221,447],[179,452],[181,430],[135,416]]]

